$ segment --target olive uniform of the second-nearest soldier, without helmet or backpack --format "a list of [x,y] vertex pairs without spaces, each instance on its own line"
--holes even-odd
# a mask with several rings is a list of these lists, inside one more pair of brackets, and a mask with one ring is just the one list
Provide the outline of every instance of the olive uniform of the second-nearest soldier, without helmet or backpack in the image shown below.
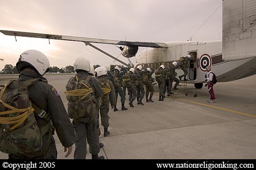
[[[79,71],[77,74],[79,79],[86,79],[90,76],[86,71]],[[95,77],[91,77],[89,80],[90,86],[93,88],[93,96],[102,97],[104,95],[100,82]],[[96,104],[96,100],[94,100]],[[92,155],[97,155],[100,152],[100,146],[98,143],[98,118],[95,109],[95,113],[92,117],[82,117],[79,120],[73,120],[73,127],[76,131],[76,148],[74,153],[74,159],[86,159],[86,138],[88,141],[89,152]]]

